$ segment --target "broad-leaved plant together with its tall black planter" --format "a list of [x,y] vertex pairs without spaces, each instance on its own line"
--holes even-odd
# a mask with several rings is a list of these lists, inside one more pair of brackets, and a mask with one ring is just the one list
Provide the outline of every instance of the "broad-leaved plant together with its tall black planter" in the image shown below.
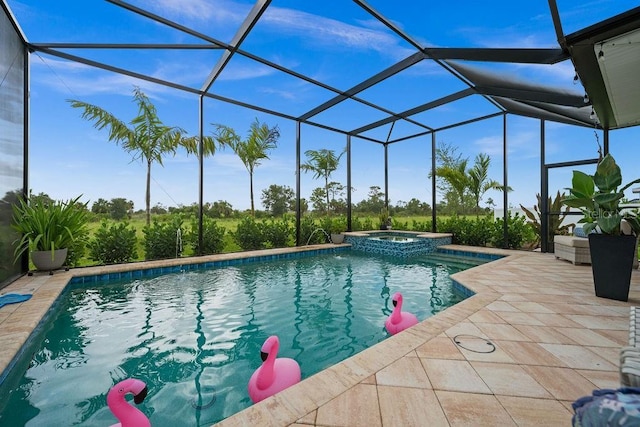
[[594,175],[573,171],[570,194],[563,202],[579,208],[584,231],[589,236],[591,268],[596,296],[620,301],[629,299],[631,270],[636,256],[640,222],[633,212],[621,211],[624,191],[640,178],[622,185],[622,173],[607,154]]

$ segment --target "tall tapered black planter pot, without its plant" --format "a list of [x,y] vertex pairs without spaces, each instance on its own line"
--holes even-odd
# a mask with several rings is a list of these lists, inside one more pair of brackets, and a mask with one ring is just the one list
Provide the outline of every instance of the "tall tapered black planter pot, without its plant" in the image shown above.
[[635,236],[589,234],[591,270],[597,297],[627,301],[633,269]]

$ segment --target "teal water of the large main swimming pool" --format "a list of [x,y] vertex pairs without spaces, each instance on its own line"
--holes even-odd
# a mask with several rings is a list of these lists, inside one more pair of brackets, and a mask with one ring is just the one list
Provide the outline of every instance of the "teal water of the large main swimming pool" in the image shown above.
[[304,379],[384,340],[394,292],[419,320],[460,301],[460,269],[348,251],[72,287],[1,385],[0,425],[110,425],[128,377],[154,427],[211,425],[251,405],[269,335]]

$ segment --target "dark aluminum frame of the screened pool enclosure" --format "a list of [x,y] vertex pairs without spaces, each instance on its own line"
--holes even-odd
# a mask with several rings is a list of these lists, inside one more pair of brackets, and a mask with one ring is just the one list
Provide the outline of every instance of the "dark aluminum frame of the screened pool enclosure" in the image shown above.
[[[9,7],[6,4],[6,0],[0,0],[2,2],[2,6],[5,10],[9,11]],[[498,75],[494,73],[489,73],[486,71],[481,71],[472,66],[467,65],[469,61],[482,61],[482,62],[501,62],[501,63],[526,63],[526,64],[556,64],[566,60],[572,60],[574,65],[576,66],[577,71],[581,75],[587,76],[591,71],[591,68],[587,68],[582,71],[582,67],[593,67],[593,64],[588,64],[583,66],[580,62],[579,58],[574,58],[574,54],[576,52],[575,45],[578,42],[581,42],[585,39],[590,40],[591,43],[597,43],[599,39],[594,36],[597,34],[598,29],[602,29],[607,35],[611,35],[612,32],[622,31],[622,29],[627,29],[628,27],[639,26],[640,27],[640,8],[636,8],[630,12],[623,14],[621,17],[614,17],[607,20],[605,23],[590,27],[590,29],[585,30],[584,32],[574,33],[571,36],[565,37],[562,33],[561,23],[559,14],[557,13],[557,6],[555,0],[549,0],[549,8],[551,12],[551,16],[554,22],[554,28],[556,31],[556,35],[558,37],[559,48],[553,49],[530,49],[530,48],[435,48],[424,46],[418,41],[416,41],[411,35],[404,32],[397,25],[395,25],[391,20],[380,14],[373,7],[371,7],[367,2],[363,0],[354,0],[354,2],[361,7],[364,11],[366,11],[370,16],[375,18],[378,22],[389,28],[394,34],[400,37],[402,40],[406,41],[409,45],[411,45],[415,52],[405,59],[398,61],[392,66],[382,70],[372,77],[365,79],[364,81],[354,85],[353,87],[342,90],[336,87],[332,87],[328,84],[322,83],[316,79],[308,75],[303,75],[298,73],[292,69],[288,69],[281,65],[278,65],[272,61],[269,61],[266,58],[260,57],[259,55],[255,55],[251,52],[248,52],[242,49],[242,43],[246,39],[246,37],[251,33],[252,29],[259,22],[260,18],[264,14],[264,12],[269,8],[271,4],[271,0],[258,0],[256,1],[254,7],[248,13],[242,25],[238,28],[235,36],[231,40],[230,43],[225,43],[220,40],[217,40],[213,37],[210,37],[206,34],[202,34],[198,31],[195,31],[191,28],[182,26],[174,21],[166,19],[164,17],[153,14],[147,10],[134,6],[130,3],[127,3],[122,0],[107,0],[107,2],[113,4],[114,6],[125,9],[131,13],[137,14],[145,19],[149,19],[157,24],[166,26],[175,31],[182,32],[189,36],[195,37],[201,40],[201,43],[180,43],[180,44],[167,44],[167,43],[146,43],[146,44],[136,44],[136,43],[125,43],[125,44],[109,44],[109,43],[30,43],[28,39],[25,37],[24,43],[25,48],[29,49],[30,52],[42,52],[47,55],[51,55],[54,57],[62,58],[65,60],[82,63],[85,65],[89,65],[92,67],[100,68],[103,70],[107,70],[114,73],[119,73],[123,75],[127,75],[133,78],[149,81],[155,84],[164,85],[167,87],[171,87],[180,91],[184,91],[187,93],[191,93],[199,97],[199,132],[200,137],[203,137],[203,115],[204,115],[204,103],[203,100],[205,98],[213,99],[216,101],[233,104],[239,107],[248,108],[253,111],[258,111],[261,113],[266,113],[269,115],[273,115],[275,117],[280,117],[296,124],[296,197],[297,197],[297,208],[296,208],[296,244],[300,245],[303,242],[300,242],[299,232],[300,232],[300,153],[301,153],[301,125],[309,125],[318,128],[322,128],[331,132],[335,132],[338,134],[343,134],[347,141],[347,200],[348,200],[348,215],[347,220],[349,224],[349,229],[351,229],[351,186],[350,186],[350,177],[351,177],[351,143],[352,138],[359,138],[364,141],[373,142],[377,144],[381,144],[384,146],[385,151],[385,170],[387,169],[387,150],[388,146],[391,144],[399,143],[405,140],[431,135],[432,143],[431,143],[431,155],[432,161],[435,158],[435,135],[437,132],[451,129],[457,126],[464,126],[466,124],[474,123],[481,120],[490,119],[493,117],[503,116],[503,150],[504,150],[504,165],[503,165],[503,185],[507,187],[507,162],[506,162],[506,151],[507,151],[507,115],[519,115],[526,116],[538,119],[541,123],[544,121],[555,121],[560,123],[571,124],[575,126],[581,127],[589,127],[589,128],[597,128],[597,129],[613,129],[615,128],[616,123],[607,120],[603,121],[603,125],[599,123],[594,123],[591,118],[591,110],[593,107],[596,107],[598,113],[600,113],[600,103],[602,96],[602,90],[600,86],[593,86],[591,83],[587,84],[585,82],[585,88],[588,89],[589,92],[589,102],[586,104],[582,100],[582,94],[578,93],[566,93],[563,91],[558,91],[554,88],[544,87],[541,85],[532,85],[527,83],[518,82],[516,80],[510,79],[503,75]],[[620,23],[621,19],[624,20],[624,23]],[[16,22],[15,25],[18,25]],[[601,28],[602,27],[602,28]],[[122,67],[117,67],[108,63],[101,63],[98,61],[94,61],[80,55],[75,55],[68,53],[68,50],[86,50],[86,49],[210,49],[210,50],[223,50],[222,58],[216,63],[207,78],[202,82],[202,85],[199,88],[185,86],[173,81],[163,80],[160,78],[152,77],[137,73],[130,69],[125,69]],[[215,81],[220,76],[221,72],[224,70],[230,59],[234,55],[240,55],[244,58],[250,59],[252,61],[256,61],[257,63],[273,68],[280,72],[283,72],[291,77],[296,79],[300,79],[306,83],[310,83],[316,87],[322,88],[334,94],[334,97],[317,105],[316,107],[310,109],[306,113],[303,113],[298,116],[293,116],[282,111],[276,111],[269,108],[265,108],[259,105],[250,104],[247,102],[243,102],[237,99],[225,97],[218,95],[212,92],[211,88]],[[452,76],[460,80],[464,85],[467,86],[466,89],[457,91],[455,93],[448,94],[439,99],[431,100],[422,105],[418,105],[407,109],[405,111],[392,111],[388,108],[377,105],[375,103],[366,101],[358,96],[364,90],[371,88],[386,79],[412,67],[422,61],[433,61],[438,64]],[[464,64],[459,61],[466,61]],[[580,70],[578,70],[580,68]],[[584,79],[583,79],[584,81]],[[591,88],[593,86],[593,88]],[[592,95],[593,91],[593,95]],[[422,121],[416,119],[418,113],[422,113],[428,111],[433,108],[437,108],[439,106],[446,105],[448,103],[454,102],[456,100],[463,99],[469,96],[480,96],[484,98],[489,104],[491,104],[495,108],[495,113],[487,114],[481,117],[477,117],[471,120],[465,120],[457,123],[451,123],[449,125],[435,127],[430,125],[429,123],[423,123]],[[385,118],[376,120],[367,125],[360,126],[355,129],[344,129],[338,128],[335,125],[330,123],[323,123],[316,118],[320,113],[327,111],[345,100],[351,100],[357,102],[361,105],[373,108],[376,111],[379,111],[386,115]],[[593,104],[592,104],[593,102]],[[603,104],[604,105],[604,104]],[[28,108],[28,106],[25,106]],[[606,110],[606,105],[602,107],[602,111]],[[604,115],[604,114],[603,114]],[[608,117],[608,116],[607,116]],[[368,135],[365,135],[366,132],[377,129],[381,126],[391,124],[393,129],[393,124],[397,121],[405,121],[413,126],[416,126],[422,131],[408,135],[399,137],[396,139],[392,138],[392,132],[388,133],[388,137],[386,140],[380,140]],[[543,126],[541,126],[541,150],[544,152],[544,136],[543,136]],[[25,141],[25,147],[28,145],[28,133],[25,134],[27,137],[27,141]],[[608,146],[605,146],[605,151],[608,151]],[[541,165],[541,172],[546,173],[546,169],[550,167],[549,165],[543,163]],[[203,204],[203,156],[202,152],[199,155],[199,168],[200,168],[200,178],[199,178],[199,204],[200,210],[202,210]],[[435,164],[432,163],[432,168],[435,170]],[[433,227],[435,230],[435,179],[436,176],[433,174],[432,176],[432,188],[434,189],[433,193]],[[388,201],[388,176],[385,172],[385,200]],[[541,182],[541,185],[545,185],[545,182]],[[548,190],[547,190],[548,192]],[[503,192],[504,195],[504,206],[505,208],[508,206],[508,195],[507,192]],[[505,209],[506,211],[506,209]],[[545,211],[544,216],[542,218],[543,223],[548,224],[547,215],[549,212]],[[505,223],[506,225],[506,223]],[[506,236],[506,227],[505,227],[505,236]],[[200,230],[199,230],[199,238],[202,239],[202,211],[200,211]]]

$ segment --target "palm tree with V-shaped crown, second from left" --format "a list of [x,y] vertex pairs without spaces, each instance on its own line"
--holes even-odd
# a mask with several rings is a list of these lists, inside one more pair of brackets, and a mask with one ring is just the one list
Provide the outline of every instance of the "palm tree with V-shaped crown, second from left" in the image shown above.
[[280,130],[278,126],[270,128],[266,123],[261,124],[256,118],[249,128],[249,136],[243,141],[232,128],[224,125],[214,126],[216,127],[213,133],[214,139],[218,145],[230,147],[249,172],[251,215],[254,215],[253,173],[263,159],[269,159],[267,152],[276,148],[278,138],[280,138]]

